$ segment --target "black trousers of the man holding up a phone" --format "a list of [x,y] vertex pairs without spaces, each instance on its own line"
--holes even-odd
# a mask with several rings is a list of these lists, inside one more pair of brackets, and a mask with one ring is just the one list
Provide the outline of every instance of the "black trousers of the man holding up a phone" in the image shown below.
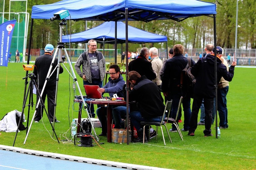
[[206,98],[203,96],[194,95],[194,100],[192,104],[192,112],[189,122],[189,132],[195,132],[197,129],[197,118],[198,112],[202,104],[202,100],[204,99],[204,108],[205,108],[205,130],[203,133],[205,135],[210,135],[212,130],[212,108],[213,108],[213,99],[214,98]]

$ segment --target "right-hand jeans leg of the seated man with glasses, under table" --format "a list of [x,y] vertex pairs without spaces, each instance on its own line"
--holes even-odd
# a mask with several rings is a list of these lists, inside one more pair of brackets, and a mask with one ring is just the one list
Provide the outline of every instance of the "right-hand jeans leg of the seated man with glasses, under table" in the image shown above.
[[122,119],[126,116],[126,106],[118,106],[112,110],[112,116],[114,119],[115,129],[121,129]]

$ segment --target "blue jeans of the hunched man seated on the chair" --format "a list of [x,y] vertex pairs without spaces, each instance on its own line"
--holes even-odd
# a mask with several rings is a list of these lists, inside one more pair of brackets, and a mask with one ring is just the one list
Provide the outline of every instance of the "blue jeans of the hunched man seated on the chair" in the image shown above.
[[140,111],[134,111],[130,113],[130,120],[136,130],[140,130],[143,128],[143,125],[140,122],[161,122],[163,116],[153,117],[153,118],[145,118],[142,117]]

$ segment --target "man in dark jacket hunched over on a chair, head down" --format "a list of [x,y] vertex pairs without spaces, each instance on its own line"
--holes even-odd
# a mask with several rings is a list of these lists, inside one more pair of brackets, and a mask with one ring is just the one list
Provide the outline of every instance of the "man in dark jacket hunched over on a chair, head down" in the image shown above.
[[[165,106],[160,89],[153,81],[141,76],[136,71],[131,71],[128,75],[131,83],[129,101],[136,101],[137,103],[137,110],[130,112],[131,123],[138,133],[138,138],[134,139],[133,142],[142,142],[144,134],[143,125],[140,122],[161,122]],[[126,99],[125,87],[124,85],[123,95]],[[146,138],[145,141],[147,141]]]

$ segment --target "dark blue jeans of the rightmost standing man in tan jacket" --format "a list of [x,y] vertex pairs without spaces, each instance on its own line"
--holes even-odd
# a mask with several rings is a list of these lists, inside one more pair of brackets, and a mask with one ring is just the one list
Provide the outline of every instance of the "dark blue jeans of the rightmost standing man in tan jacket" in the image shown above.
[[224,87],[222,89],[218,89],[218,112],[220,117],[220,126],[223,128],[228,128],[227,125],[227,92],[228,92],[229,86]]

